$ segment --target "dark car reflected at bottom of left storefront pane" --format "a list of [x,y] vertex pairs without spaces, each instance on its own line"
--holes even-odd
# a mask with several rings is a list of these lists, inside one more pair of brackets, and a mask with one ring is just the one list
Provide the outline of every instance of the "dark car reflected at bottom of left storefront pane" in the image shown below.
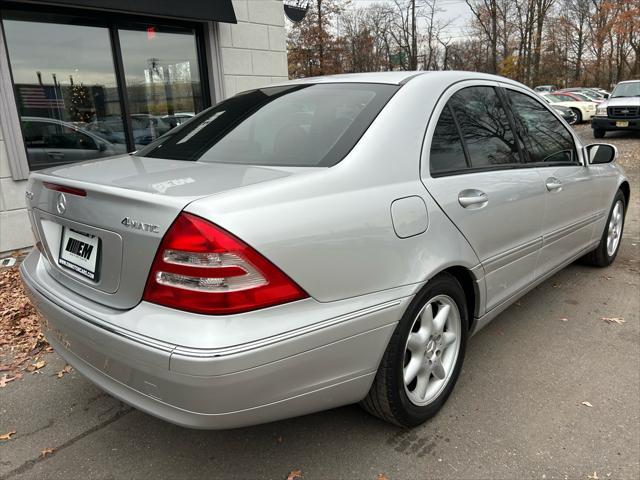
[[22,131],[32,169],[125,153],[98,135],[69,122],[47,117],[22,117]]

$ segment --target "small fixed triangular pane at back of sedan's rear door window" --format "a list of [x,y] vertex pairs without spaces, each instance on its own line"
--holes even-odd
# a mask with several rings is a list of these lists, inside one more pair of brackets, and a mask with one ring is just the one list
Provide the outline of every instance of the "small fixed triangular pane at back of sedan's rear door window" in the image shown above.
[[449,106],[446,106],[438,119],[429,156],[431,173],[444,173],[467,167],[467,161]]

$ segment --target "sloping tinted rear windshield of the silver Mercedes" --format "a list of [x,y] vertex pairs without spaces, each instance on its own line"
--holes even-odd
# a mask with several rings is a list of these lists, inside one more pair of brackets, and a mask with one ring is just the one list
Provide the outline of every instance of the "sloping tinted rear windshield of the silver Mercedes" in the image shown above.
[[252,90],[205,110],[136,155],[330,167],[349,153],[398,88],[334,83]]

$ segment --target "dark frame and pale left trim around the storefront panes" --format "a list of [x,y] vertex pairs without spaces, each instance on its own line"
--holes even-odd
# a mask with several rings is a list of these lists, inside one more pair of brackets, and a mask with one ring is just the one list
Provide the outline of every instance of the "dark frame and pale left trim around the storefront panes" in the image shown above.
[[[210,81],[209,76],[212,68],[216,68],[214,65],[211,65],[211,62],[217,61],[218,58],[211,58],[209,52],[219,48],[219,42],[217,42],[217,36],[210,33],[211,26],[208,23],[211,22],[167,19],[149,15],[136,15],[135,13],[96,12],[91,9],[74,7],[16,4],[11,1],[5,2],[0,0],[0,131],[2,132],[2,138],[7,147],[9,169],[13,180],[28,179],[29,173],[32,170],[29,165],[27,148],[22,133],[22,125],[17,105],[18,96],[15,91],[16,87],[13,81],[9,52],[6,47],[4,26],[2,24],[2,20],[5,18],[5,12],[7,11],[34,14],[35,18],[32,20],[34,22],[49,21],[49,23],[93,26],[107,29],[111,59],[116,76],[116,85],[119,90],[120,114],[123,117],[127,152],[132,152],[136,148],[133,143],[133,127],[129,115],[129,98],[126,91],[125,72],[122,62],[122,45],[119,41],[118,33],[119,29],[144,26],[149,23],[158,25],[159,27],[192,29],[196,43],[196,59],[198,62],[198,76],[203,110],[213,105],[216,95],[212,88],[215,87],[215,85]],[[42,16],[41,19],[37,18],[39,15]],[[51,17],[47,17],[48,15]],[[216,45],[209,45],[211,41],[216,41]],[[215,82],[215,79],[213,80]]]

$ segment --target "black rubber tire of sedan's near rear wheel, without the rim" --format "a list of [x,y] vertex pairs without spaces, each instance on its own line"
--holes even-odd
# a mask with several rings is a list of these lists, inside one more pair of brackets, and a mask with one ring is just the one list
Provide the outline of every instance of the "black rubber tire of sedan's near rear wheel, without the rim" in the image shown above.
[[[446,295],[458,307],[460,314],[460,346],[453,371],[446,385],[427,405],[415,405],[405,391],[403,367],[405,346],[414,320],[423,307],[436,296]],[[458,280],[441,273],[430,280],[416,295],[398,323],[382,357],[378,372],[367,397],[360,405],[370,414],[401,427],[413,427],[433,417],[444,405],[458,380],[469,336],[469,312],[464,290]]]

